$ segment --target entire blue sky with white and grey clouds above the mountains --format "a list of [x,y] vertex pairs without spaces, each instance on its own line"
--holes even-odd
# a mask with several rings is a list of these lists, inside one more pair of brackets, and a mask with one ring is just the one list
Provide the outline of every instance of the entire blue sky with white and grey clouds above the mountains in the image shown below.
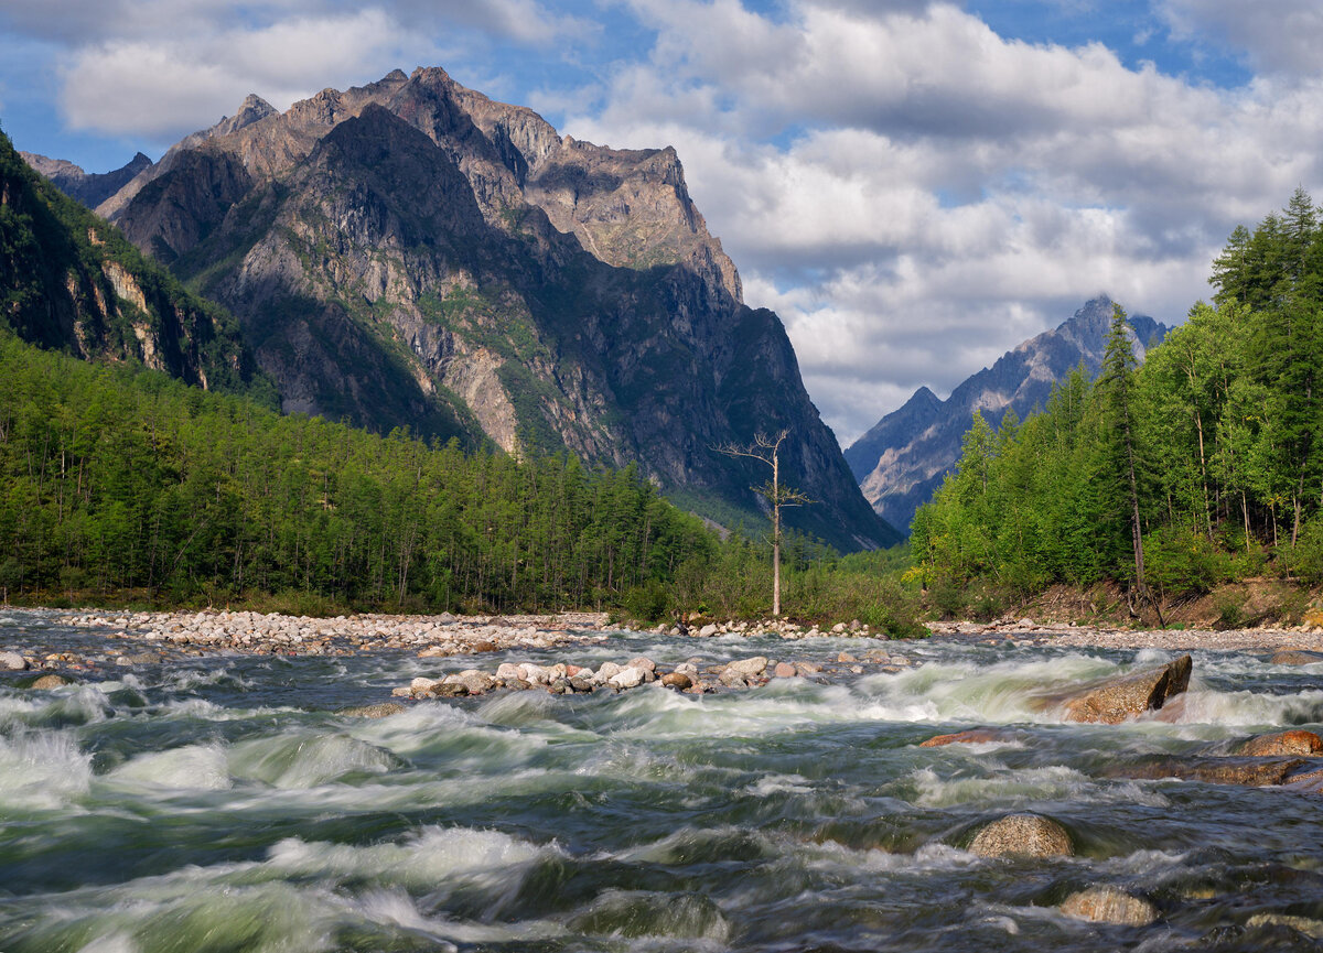
[[1318,0],[0,0],[0,127],[89,172],[257,93],[443,66],[673,145],[845,447],[1106,292],[1168,324],[1298,186]]

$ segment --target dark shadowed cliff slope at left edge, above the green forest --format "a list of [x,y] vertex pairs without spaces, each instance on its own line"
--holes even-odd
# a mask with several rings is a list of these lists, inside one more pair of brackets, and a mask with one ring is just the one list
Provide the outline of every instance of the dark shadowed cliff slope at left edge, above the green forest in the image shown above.
[[271,393],[232,315],[38,176],[3,132],[0,324],[85,360],[139,361],[200,387]]

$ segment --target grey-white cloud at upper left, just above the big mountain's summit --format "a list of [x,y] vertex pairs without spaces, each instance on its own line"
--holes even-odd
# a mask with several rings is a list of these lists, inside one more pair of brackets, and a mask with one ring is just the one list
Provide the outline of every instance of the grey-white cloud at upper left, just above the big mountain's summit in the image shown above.
[[450,62],[472,36],[548,44],[595,29],[537,0],[0,0],[0,25],[60,50],[70,127],[165,143],[249,93],[286,107],[397,66]]

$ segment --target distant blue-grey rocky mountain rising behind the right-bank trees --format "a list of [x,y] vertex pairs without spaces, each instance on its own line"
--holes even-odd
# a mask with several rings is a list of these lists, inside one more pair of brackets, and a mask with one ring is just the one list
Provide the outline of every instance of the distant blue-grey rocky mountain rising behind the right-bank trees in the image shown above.
[[[1046,404],[1052,385],[1082,362],[1090,375],[1102,366],[1111,324],[1111,299],[1088,301],[1053,330],[1024,341],[991,367],[967,378],[946,400],[919,387],[847,451],[855,478],[873,509],[893,526],[909,527],[914,510],[927,502],[957,460],[960,438],[979,410],[996,427],[1007,408],[1024,418]],[[1135,356],[1162,340],[1170,328],[1144,315],[1130,319]]]

